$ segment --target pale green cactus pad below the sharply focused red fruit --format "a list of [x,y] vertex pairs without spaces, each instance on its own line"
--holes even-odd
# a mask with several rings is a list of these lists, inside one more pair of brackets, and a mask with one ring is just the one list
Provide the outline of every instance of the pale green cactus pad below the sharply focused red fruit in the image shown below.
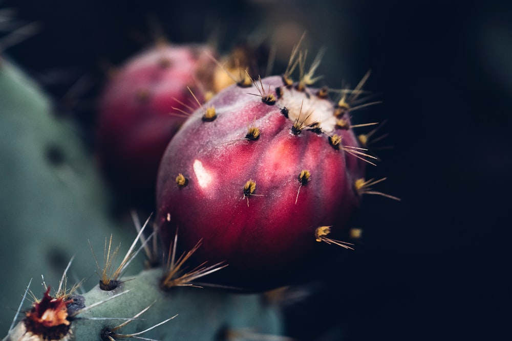
[[[251,330],[260,334],[276,335],[282,332],[279,314],[272,306],[262,303],[259,295],[226,294],[202,288],[174,288],[165,292],[158,289],[161,270],[143,271],[136,277],[121,279],[116,289],[101,290],[98,286],[83,296],[74,295],[76,312],[84,309],[71,321],[66,333],[58,339],[92,341],[129,338],[160,322],[171,321],[140,335],[160,340],[228,340],[226,330]],[[109,300],[110,299],[110,300]],[[88,306],[106,301],[87,309]],[[85,307],[84,307],[84,306]],[[70,307],[68,312],[72,314]],[[149,307],[147,311],[142,310]],[[136,315],[138,315],[136,317]],[[140,316],[140,317],[139,317]],[[116,329],[136,317],[122,328]],[[4,341],[43,340],[44,337],[27,330],[19,323]]]

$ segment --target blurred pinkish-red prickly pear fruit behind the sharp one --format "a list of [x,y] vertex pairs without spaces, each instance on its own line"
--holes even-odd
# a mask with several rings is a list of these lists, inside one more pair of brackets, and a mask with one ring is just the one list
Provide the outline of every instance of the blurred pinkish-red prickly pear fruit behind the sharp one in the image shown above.
[[106,178],[130,203],[153,207],[160,158],[189,110],[189,86],[199,101],[215,62],[200,45],[157,44],[127,61],[105,85],[99,103],[97,152]]

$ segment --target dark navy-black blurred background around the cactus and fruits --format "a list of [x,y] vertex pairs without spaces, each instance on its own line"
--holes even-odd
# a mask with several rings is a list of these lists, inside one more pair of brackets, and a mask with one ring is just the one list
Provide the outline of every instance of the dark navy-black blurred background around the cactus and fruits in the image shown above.
[[[215,40],[225,51],[238,39],[261,36],[288,55],[296,40],[279,32],[295,27],[298,36],[307,31],[311,55],[327,48],[319,83],[355,85],[371,69],[365,87],[383,104],[361,111],[361,120],[387,119],[382,132],[390,135],[381,146],[394,148],[377,152],[383,162],[369,175],[388,176],[378,190],[402,201],[365,197],[356,220],[364,228],[361,245],[308,287],[313,298],[290,306],[289,334],[304,340],[506,335],[509,2],[18,0],[0,7],[15,9],[20,24],[38,22],[38,32],[6,54],[47,88],[86,141],[105,65],[119,64],[158,33],[178,43]],[[282,72],[280,66],[278,60],[274,70]],[[71,96],[79,80],[87,86]]]

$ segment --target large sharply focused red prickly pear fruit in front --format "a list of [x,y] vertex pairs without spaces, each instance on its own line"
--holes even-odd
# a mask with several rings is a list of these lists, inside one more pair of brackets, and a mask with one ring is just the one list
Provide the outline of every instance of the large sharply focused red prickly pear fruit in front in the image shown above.
[[[261,97],[252,96],[259,94],[254,85],[219,93],[208,102],[217,119],[203,122],[204,109],[196,111],[166,149],[157,179],[157,223],[164,241],[176,229],[183,249],[202,239],[197,263],[229,264],[208,279],[249,291],[290,284],[314,270],[305,271],[306,266],[324,262],[325,243],[315,241],[315,229],[332,225],[333,236],[343,235],[359,206],[354,181],[364,176],[363,161],[329,144],[328,134],[336,133],[344,146],[359,147],[352,130],[330,123],[333,102],[316,100],[315,89],[288,87],[278,94],[276,87],[283,90],[281,77],[263,79]],[[269,105],[262,101],[265,95],[279,99]],[[298,123],[311,120],[315,108],[329,111],[321,122],[328,132],[303,126],[292,133],[294,121],[283,115],[284,104]],[[344,118],[349,120],[348,112]],[[261,131],[252,141],[245,138],[251,127]],[[302,170],[311,173],[303,186]],[[188,179],[186,186],[176,184],[179,173]],[[255,182],[253,193],[249,187],[244,193],[248,180]]]

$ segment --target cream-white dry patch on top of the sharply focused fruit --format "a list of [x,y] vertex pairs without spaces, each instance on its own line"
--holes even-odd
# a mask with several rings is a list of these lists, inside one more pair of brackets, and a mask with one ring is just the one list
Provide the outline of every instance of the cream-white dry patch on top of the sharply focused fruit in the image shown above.
[[318,122],[323,131],[334,131],[336,117],[333,115],[334,105],[331,101],[297,91],[295,88],[283,87],[283,96],[277,105],[288,109],[288,118],[292,122],[303,124],[304,127]]

